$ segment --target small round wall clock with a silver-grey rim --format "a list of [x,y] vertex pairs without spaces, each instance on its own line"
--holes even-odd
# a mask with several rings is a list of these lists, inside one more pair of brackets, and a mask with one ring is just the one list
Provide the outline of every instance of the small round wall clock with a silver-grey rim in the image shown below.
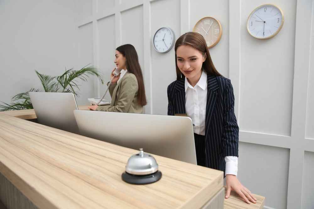
[[160,28],[156,31],[153,39],[155,50],[164,53],[173,47],[175,36],[170,28]]

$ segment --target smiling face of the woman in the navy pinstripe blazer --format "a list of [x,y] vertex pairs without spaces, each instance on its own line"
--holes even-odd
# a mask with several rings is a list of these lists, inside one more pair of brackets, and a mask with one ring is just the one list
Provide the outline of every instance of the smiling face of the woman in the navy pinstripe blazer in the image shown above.
[[202,75],[202,65],[206,60],[199,50],[189,45],[181,45],[176,50],[176,63],[187,81],[195,86]]

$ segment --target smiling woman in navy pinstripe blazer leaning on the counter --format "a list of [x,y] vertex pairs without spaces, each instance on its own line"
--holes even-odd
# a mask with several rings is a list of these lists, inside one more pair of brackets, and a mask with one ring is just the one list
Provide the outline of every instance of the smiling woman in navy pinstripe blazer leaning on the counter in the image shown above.
[[167,89],[168,115],[193,121],[198,165],[224,171],[227,193],[235,190],[247,203],[256,198],[236,178],[239,127],[233,87],[214,67],[202,35],[183,34],[175,44],[177,80]]

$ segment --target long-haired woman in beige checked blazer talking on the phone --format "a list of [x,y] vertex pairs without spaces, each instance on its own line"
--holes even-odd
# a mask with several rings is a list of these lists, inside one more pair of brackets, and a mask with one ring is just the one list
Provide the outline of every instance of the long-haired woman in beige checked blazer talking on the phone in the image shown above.
[[[130,112],[143,113],[143,106],[147,104],[141,66],[138,55],[133,45],[125,44],[116,48],[116,68],[111,72],[111,105],[90,106],[90,110],[107,112]],[[126,72],[121,76],[114,76],[113,72],[124,69]],[[112,78],[113,77],[113,78]]]

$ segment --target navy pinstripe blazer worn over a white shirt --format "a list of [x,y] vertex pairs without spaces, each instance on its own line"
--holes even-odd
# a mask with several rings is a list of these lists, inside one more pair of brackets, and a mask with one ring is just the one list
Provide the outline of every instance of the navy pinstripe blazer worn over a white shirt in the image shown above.
[[[167,89],[168,115],[185,112],[185,77]],[[205,165],[225,172],[225,156],[238,157],[239,127],[234,114],[231,81],[207,75],[205,116]]]

